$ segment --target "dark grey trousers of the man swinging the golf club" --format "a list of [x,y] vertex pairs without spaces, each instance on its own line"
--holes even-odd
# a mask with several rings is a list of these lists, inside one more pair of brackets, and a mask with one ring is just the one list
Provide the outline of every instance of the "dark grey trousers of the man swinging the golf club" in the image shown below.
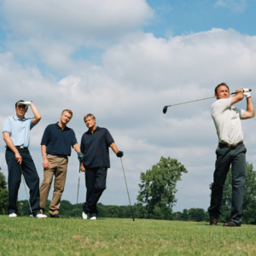
[[228,172],[232,172],[232,203],[230,221],[241,225],[241,206],[244,194],[246,178],[246,152],[244,144],[230,149],[218,146],[216,150],[217,160],[213,174],[211,206],[208,208],[210,217],[218,218],[224,189],[224,183]]

